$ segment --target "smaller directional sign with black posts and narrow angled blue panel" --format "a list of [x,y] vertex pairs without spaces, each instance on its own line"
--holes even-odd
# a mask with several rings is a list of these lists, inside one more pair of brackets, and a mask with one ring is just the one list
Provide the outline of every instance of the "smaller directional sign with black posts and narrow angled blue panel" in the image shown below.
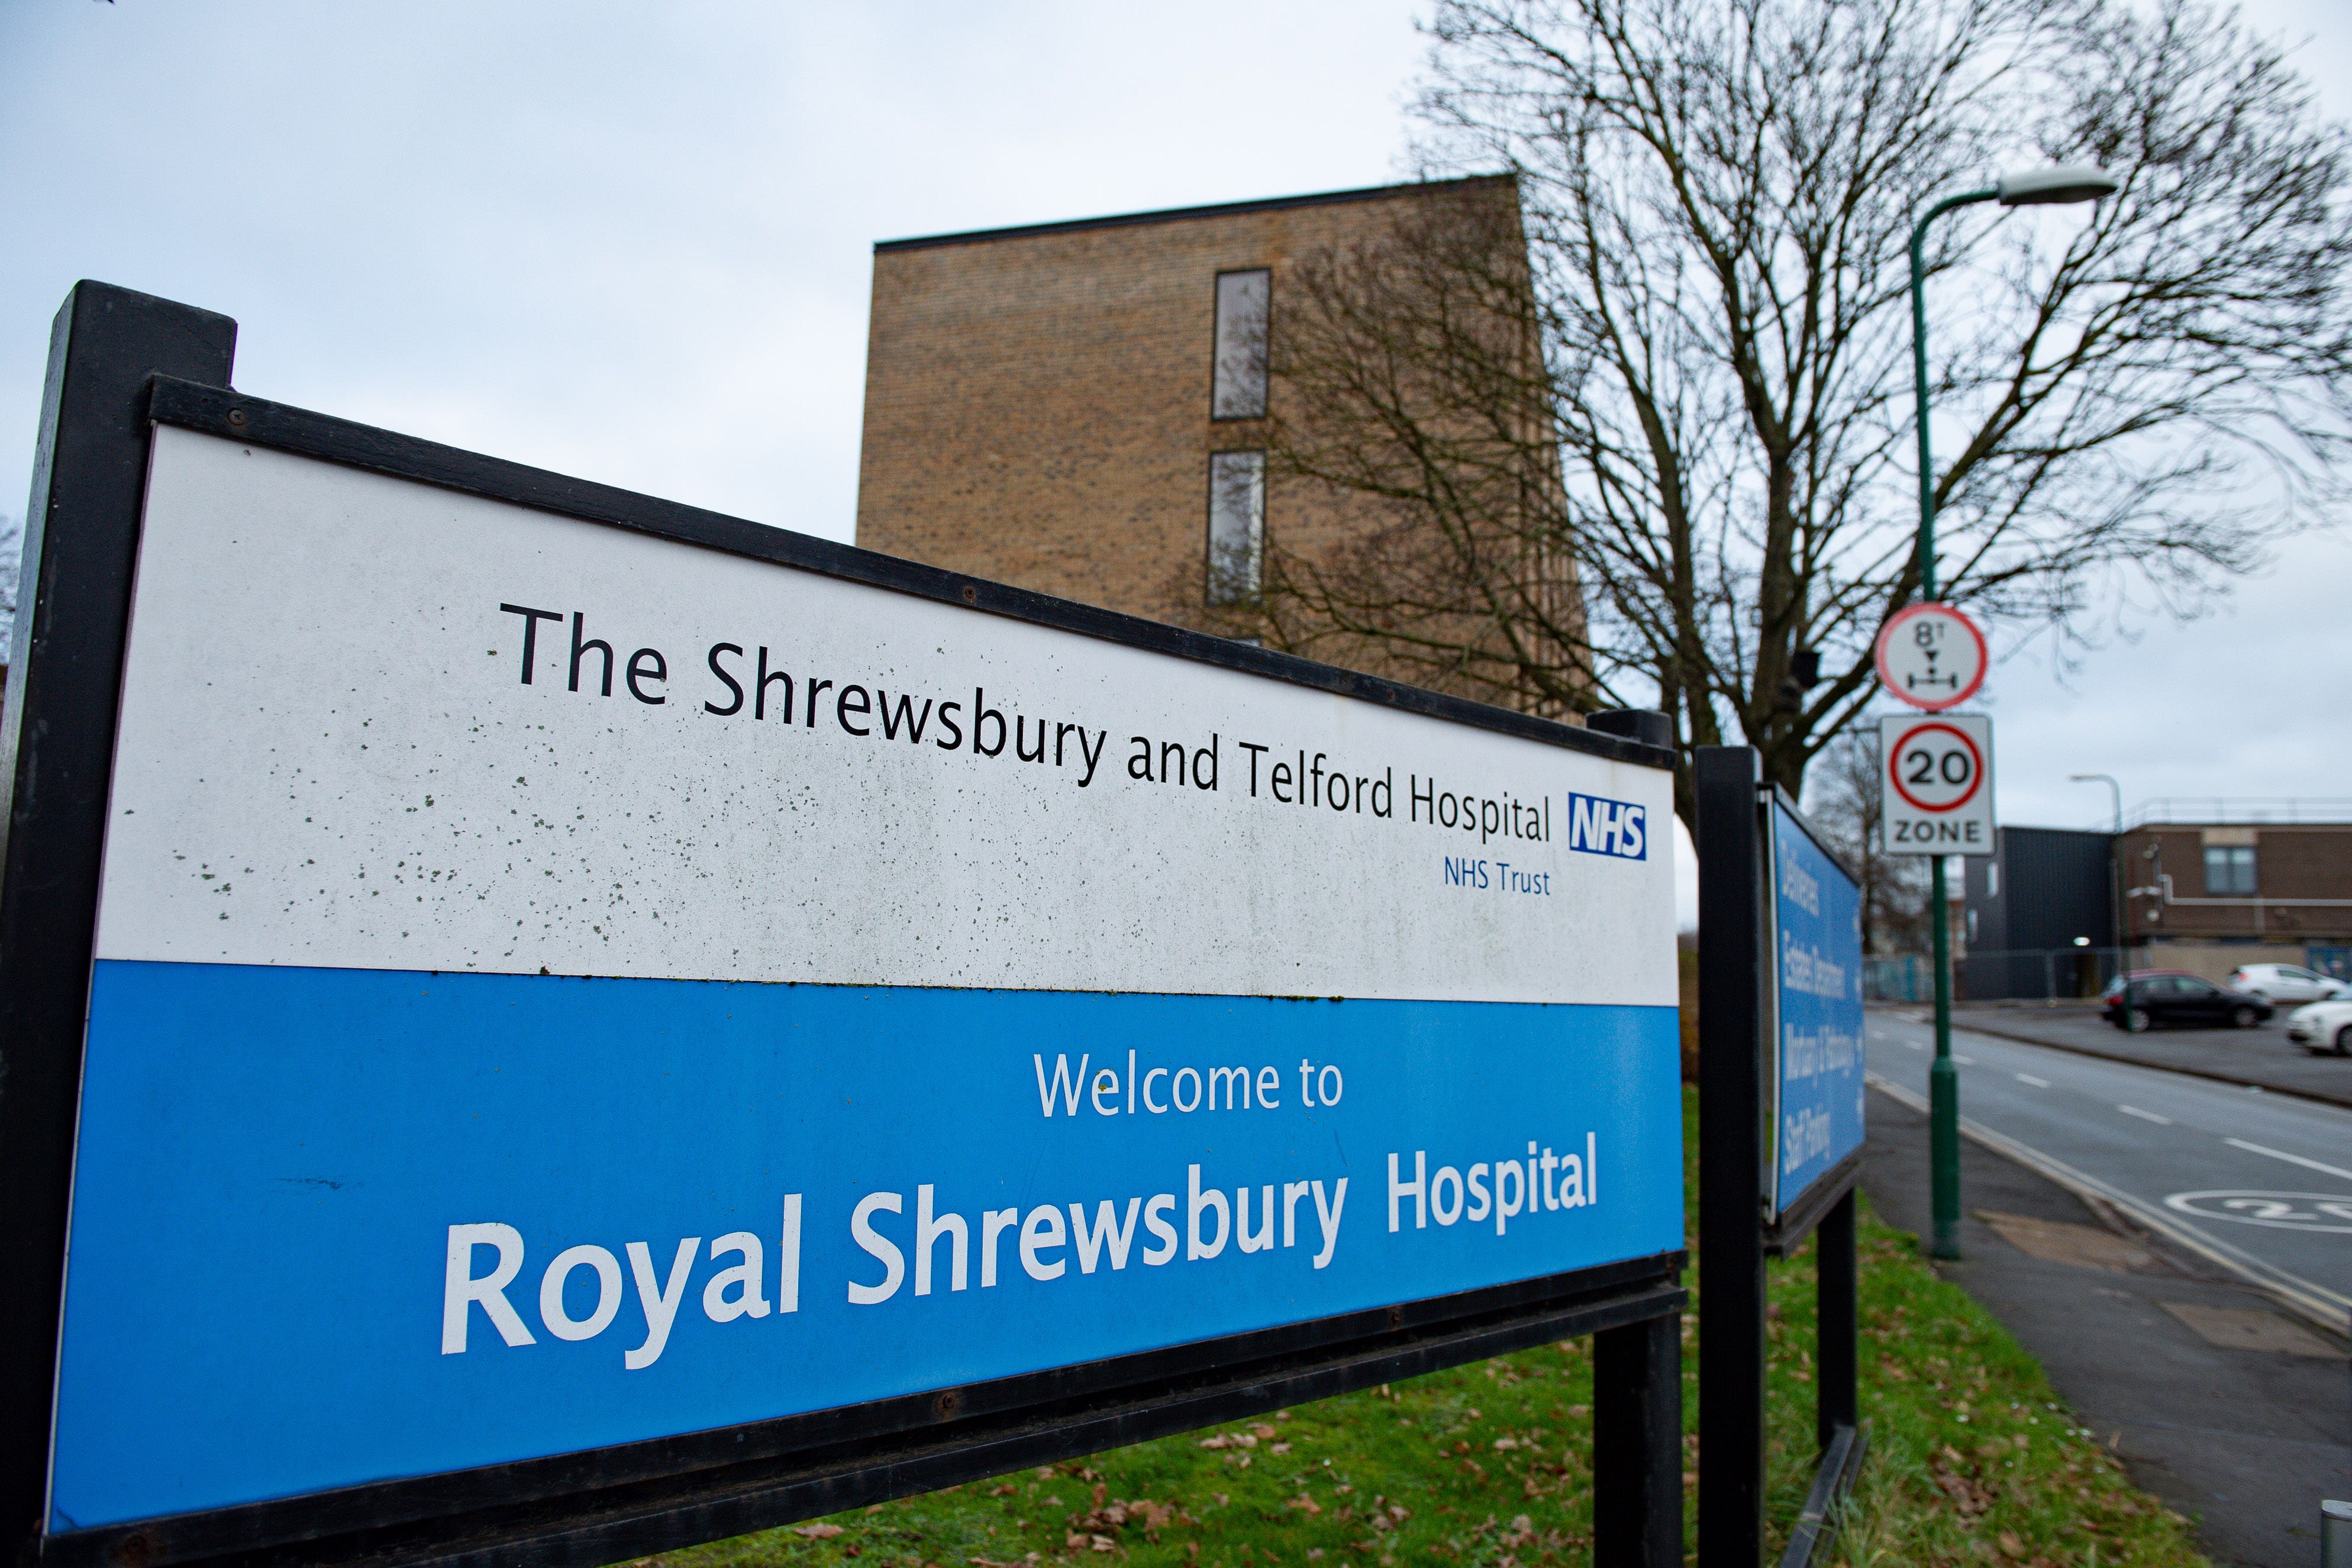
[[1783,1568],[1835,1535],[1863,1460],[1853,1187],[1863,1164],[1860,891],[1750,748],[1698,752],[1698,1556],[1764,1549],[1764,1260],[1813,1237],[1820,1467]]

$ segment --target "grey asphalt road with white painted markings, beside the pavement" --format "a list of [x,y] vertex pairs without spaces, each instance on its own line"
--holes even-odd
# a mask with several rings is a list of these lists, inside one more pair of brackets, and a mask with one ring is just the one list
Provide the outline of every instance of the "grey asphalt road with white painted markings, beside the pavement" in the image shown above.
[[[1926,1093],[1924,1011],[1872,1009],[1865,1048],[1872,1072]],[[1962,1117],[2352,1312],[2352,1110],[1964,1030],[1952,1053]]]

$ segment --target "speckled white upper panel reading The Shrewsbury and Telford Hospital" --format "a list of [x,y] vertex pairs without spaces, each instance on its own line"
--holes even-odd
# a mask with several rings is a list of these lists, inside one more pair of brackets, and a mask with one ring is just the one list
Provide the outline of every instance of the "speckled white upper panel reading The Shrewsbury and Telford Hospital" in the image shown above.
[[103,959],[1675,1006],[1658,769],[174,428],[141,552]]

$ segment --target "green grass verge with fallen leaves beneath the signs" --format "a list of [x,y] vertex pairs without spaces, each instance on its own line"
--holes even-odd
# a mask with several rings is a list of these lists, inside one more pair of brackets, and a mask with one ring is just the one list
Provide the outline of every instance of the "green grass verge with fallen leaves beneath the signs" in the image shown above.
[[[1696,1152],[1696,1098],[1684,1100]],[[1696,1161],[1686,1171],[1696,1185]],[[1696,1206],[1691,1206],[1696,1211]],[[1696,1255],[1696,1241],[1693,1241]],[[1839,1561],[2187,1568],[2180,1516],[2140,1493],[2042,1368],[1863,1218],[1860,1403],[1872,1422]],[[1776,1262],[1769,1333],[1771,1516],[1785,1533],[1813,1465],[1813,1265]],[[1696,1432],[1696,1319],[1684,1427]],[[1432,1373],[1258,1422],[1169,1436],[647,1559],[673,1568],[1044,1561],[1395,1568],[1585,1561],[1592,1537],[1590,1342]],[[1698,1439],[1684,1450],[1696,1465]],[[1691,1469],[1684,1486],[1693,1483]],[[1686,1497],[1684,1519],[1693,1519]]]

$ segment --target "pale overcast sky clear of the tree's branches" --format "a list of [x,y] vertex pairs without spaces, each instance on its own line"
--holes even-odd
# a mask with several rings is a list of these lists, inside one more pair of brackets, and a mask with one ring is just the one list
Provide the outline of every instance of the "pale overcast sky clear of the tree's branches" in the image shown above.
[[[7,0],[0,510],[99,277],[238,317],[256,395],[849,538],[875,240],[1397,179],[1416,9]],[[2249,16],[2352,118],[2352,7]],[[2013,651],[2002,818],[2352,797],[2347,534]]]

